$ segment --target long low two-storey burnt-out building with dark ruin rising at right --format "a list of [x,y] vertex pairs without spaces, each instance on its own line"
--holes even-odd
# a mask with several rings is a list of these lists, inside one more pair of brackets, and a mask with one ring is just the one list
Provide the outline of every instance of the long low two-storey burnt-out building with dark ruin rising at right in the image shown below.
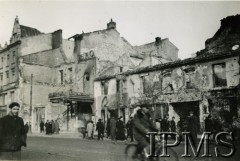
[[[168,115],[175,116],[176,121],[180,117],[186,119],[189,111],[193,111],[202,129],[209,114],[231,123],[233,116],[240,116],[239,22],[240,15],[221,20],[219,30],[206,40],[205,49],[193,58],[98,77],[95,91],[106,89],[103,82],[107,82],[108,91],[119,95],[115,104],[123,112],[117,117],[122,115],[125,121],[134,107],[150,106],[154,118]],[[97,117],[106,119],[102,111],[109,101],[102,98],[109,96],[110,93],[95,92]]]

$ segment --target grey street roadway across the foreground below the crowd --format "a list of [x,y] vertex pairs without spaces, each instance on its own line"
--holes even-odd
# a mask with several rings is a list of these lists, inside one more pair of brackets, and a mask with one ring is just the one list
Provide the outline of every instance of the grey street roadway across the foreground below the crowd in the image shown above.
[[[127,144],[130,142],[127,142]],[[113,144],[112,141],[82,139],[78,134],[63,133],[61,135],[31,134],[28,136],[27,148],[22,149],[23,161],[124,161],[125,142]],[[173,149],[177,152],[180,161],[237,161],[240,158],[239,146],[236,147],[236,153],[230,158],[217,158],[214,153],[215,144],[210,145],[210,154],[213,157],[200,157],[203,154],[203,148],[199,157],[183,158],[184,143]],[[189,149],[191,151],[191,148]],[[221,148],[221,152],[229,153],[229,149]]]

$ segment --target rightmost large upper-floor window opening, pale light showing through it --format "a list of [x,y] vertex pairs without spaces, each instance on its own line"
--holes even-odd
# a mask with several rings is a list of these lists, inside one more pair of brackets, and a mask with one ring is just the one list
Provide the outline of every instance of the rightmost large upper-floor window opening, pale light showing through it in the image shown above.
[[213,81],[214,87],[227,86],[225,63],[213,65]]

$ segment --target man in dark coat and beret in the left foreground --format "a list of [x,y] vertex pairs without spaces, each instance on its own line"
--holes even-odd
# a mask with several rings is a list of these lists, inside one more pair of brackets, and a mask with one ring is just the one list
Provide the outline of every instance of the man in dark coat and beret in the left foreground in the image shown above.
[[18,116],[20,105],[12,102],[8,115],[0,118],[0,160],[21,160],[21,147],[26,147],[23,119]]

